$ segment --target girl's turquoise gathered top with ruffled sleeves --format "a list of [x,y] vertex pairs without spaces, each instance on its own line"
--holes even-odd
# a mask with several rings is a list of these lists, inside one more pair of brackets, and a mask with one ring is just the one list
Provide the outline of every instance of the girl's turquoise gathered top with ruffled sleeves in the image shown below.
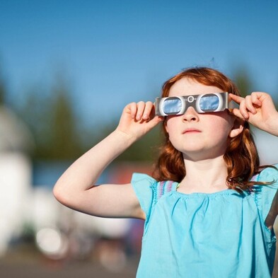
[[[277,180],[266,168],[255,177]],[[274,231],[265,219],[278,182],[183,194],[177,183],[135,173],[132,185],[146,214],[137,278],[267,278],[274,266]]]

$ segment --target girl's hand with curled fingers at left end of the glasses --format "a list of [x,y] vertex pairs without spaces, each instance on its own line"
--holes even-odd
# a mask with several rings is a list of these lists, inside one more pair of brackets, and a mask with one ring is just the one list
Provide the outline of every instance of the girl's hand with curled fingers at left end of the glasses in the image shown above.
[[139,139],[154,128],[163,117],[154,115],[154,103],[129,103],[122,111],[117,131],[124,132],[134,140]]

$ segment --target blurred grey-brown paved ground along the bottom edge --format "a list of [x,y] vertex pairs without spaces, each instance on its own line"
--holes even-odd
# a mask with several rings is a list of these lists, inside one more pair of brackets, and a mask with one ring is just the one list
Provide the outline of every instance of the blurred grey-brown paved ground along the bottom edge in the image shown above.
[[[0,260],[1,278],[134,278],[138,258],[129,259],[118,272],[111,272],[93,260],[53,263],[39,253],[10,254]],[[273,278],[278,278],[278,258]]]

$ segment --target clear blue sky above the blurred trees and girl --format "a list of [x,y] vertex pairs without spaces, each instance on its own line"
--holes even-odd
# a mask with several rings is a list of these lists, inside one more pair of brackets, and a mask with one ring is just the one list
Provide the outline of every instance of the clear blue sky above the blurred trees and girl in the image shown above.
[[[188,66],[232,77],[245,67],[256,91],[277,94],[278,1],[0,0],[0,66],[9,100],[64,71],[86,122],[154,100]],[[42,89],[42,93],[43,93]]]

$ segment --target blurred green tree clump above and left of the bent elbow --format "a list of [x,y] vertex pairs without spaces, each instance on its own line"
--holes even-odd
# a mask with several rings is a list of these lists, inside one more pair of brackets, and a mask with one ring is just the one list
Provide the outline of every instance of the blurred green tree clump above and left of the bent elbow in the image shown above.
[[52,88],[33,86],[26,92],[21,115],[35,137],[37,160],[72,160],[82,151],[79,121],[71,91],[61,76]]

